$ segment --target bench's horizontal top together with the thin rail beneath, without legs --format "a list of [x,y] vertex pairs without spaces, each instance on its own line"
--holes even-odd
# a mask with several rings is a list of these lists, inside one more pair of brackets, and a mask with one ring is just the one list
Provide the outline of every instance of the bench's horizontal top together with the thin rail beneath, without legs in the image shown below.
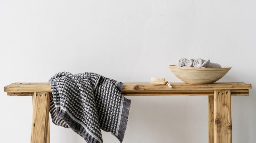
[[[173,88],[169,88],[168,85],[156,85],[147,83],[124,83],[122,94],[124,95],[138,95],[142,96],[141,92],[148,92],[147,95],[156,95],[154,92],[161,93],[161,95],[181,95],[180,92],[187,92],[189,95],[196,95],[195,90],[211,90],[200,91],[199,95],[213,95],[213,90],[233,90],[234,95],[248,95],[248,89],[251,89],[251,84],[245,84],[243,82],[233,83],[214,83],[209,85],[191,85],[186,83],[171,83]],[[234,92],[236,90],[236,92]],[[247,91],[245,91],[247,90]],[[23,95],[32,96],[32,92],[51,92],[51,86],[49,83],[12,83],[4,87],[4,91],[8,95]],[[193,91],[193,93],[189,93]],[[152,92],[152,93],[151,93]],[[211,92],[211,93],[210,93]]]

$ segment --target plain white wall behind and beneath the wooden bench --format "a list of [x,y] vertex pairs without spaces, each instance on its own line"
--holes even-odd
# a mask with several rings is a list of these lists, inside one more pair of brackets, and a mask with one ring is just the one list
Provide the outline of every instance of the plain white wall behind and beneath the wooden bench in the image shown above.
[[[30,141],[32,97],[12,97],[13,82],[48,82],[59,71],[92,71],[122,82],[166,77],[181,56],[232,69],[219,82],[252,84],[232,96],[233,143],[256,142],[256,1],[0,1],[0,142]],[[205,143],[207,96],[132,99],[123,143]],[[105,143],[119,141],[103,132]],[[52,143],[84,143],[50,122]]]

